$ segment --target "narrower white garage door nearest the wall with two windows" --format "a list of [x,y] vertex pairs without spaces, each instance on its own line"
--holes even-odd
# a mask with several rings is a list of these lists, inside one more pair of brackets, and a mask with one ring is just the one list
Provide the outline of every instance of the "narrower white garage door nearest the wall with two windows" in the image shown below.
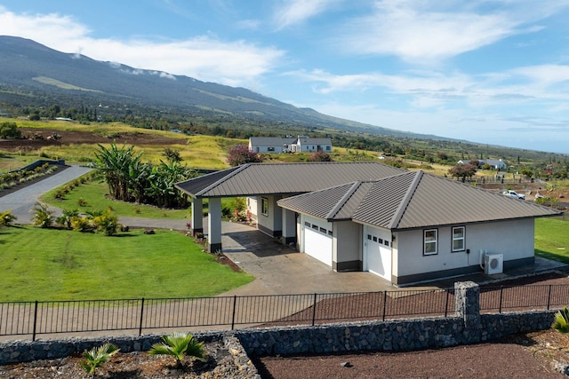
[[389,233],[369,228],[365,235],[367,270],[391,280],[391,242]]

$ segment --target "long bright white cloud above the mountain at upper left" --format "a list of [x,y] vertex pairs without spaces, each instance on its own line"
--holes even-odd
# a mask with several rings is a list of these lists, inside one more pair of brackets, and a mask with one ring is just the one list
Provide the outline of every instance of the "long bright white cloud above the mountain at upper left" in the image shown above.
[[59,51],[81,51],[92,59],[137,68],[188,75],[228,85],[254,83],[284,58],[284,51],[246,41],[212,36],[185,40],[94,38],[90,29],[69,16],[16,14],[0,7],[0,35],[21,36]]

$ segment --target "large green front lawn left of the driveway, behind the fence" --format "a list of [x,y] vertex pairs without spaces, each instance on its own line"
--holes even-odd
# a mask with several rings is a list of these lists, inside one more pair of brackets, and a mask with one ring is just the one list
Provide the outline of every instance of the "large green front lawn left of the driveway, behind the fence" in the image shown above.
[[0,229],[0,301],[213,296],[253,278],[185,235]]

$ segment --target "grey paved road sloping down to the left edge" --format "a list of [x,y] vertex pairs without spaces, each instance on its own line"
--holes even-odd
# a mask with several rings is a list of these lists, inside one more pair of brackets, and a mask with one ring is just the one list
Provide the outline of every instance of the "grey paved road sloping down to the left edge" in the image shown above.
[[16,221],[18,224],[29,224],[30,218],[33,216],[30,214],[30,210],[34,208],[37,199],[42,194],[51,191],[53,188],[63,186],[90,170],[92,169],[73,165],[31,186],[26,186],[14,193],[2,196],[0,197],[0,211],[12,209],[12,214],[18,217]]

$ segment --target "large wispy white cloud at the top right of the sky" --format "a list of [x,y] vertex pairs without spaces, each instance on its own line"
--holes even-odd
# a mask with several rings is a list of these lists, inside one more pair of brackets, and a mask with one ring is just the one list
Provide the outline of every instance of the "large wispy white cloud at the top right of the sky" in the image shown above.
[[567,6],[553,2],[535,10],[535,4],[525,0],[495,4],[489,9],[493,5],[484,1],[377,1],[370,15],[350,20],[333,42],[349,53],[434,64],[509,36],[541,30],[531,23]]

